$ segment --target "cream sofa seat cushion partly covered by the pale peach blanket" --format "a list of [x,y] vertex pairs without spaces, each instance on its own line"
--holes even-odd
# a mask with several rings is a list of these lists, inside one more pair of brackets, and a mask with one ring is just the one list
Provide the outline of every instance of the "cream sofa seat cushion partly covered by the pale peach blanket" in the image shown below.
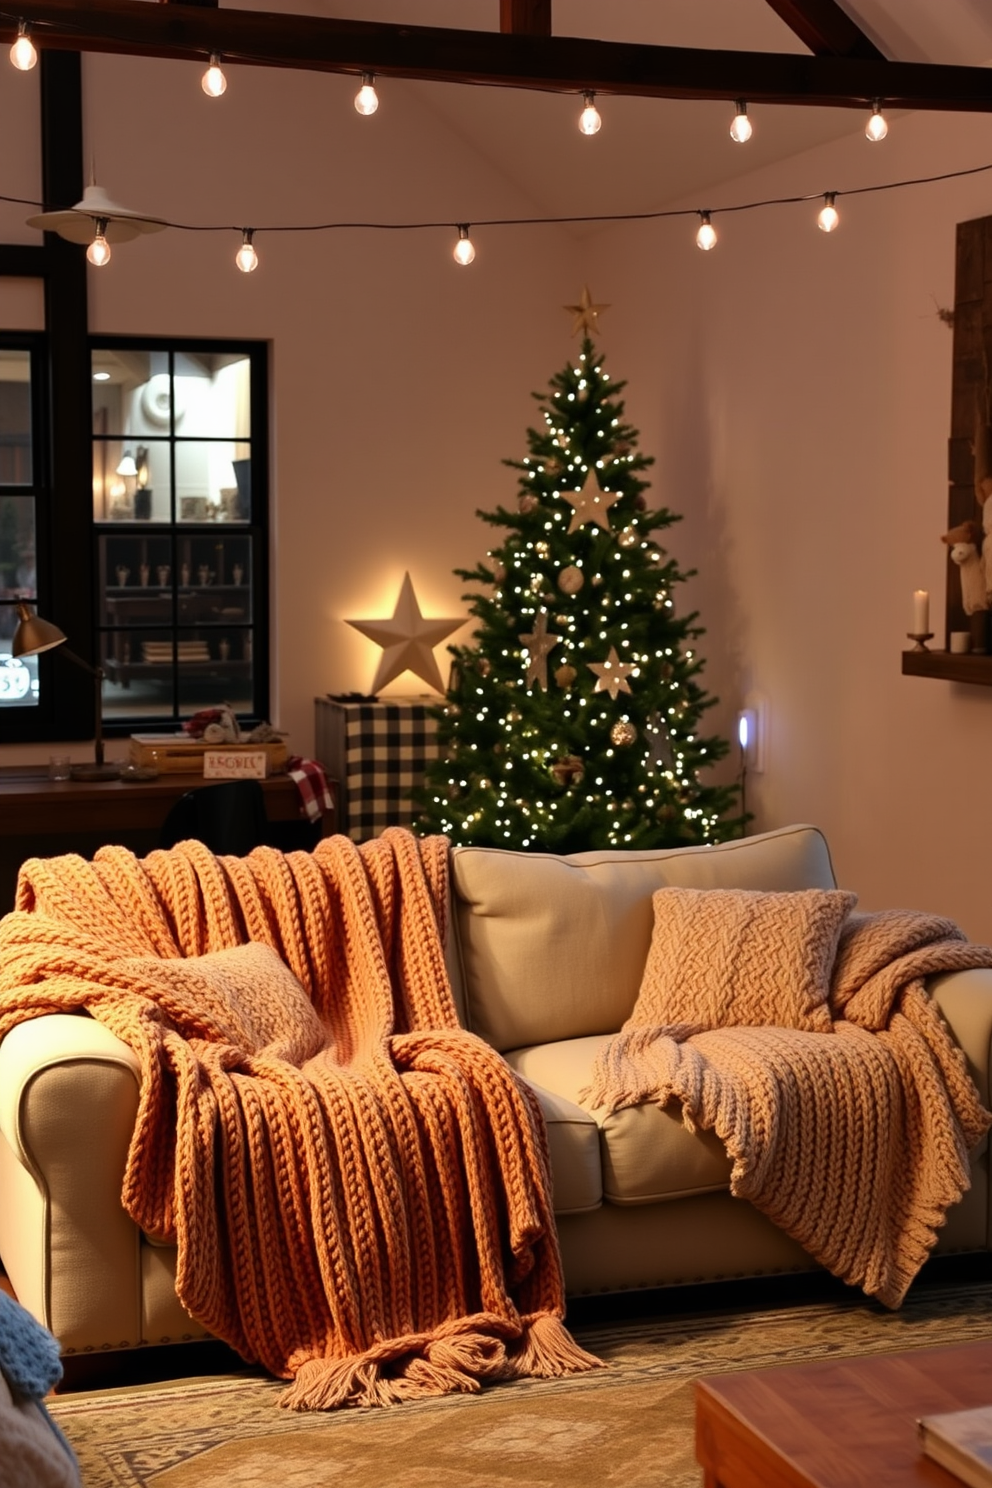
[[[513,1049],[504,1058],[541,1091],[582,1109],[580,1092],[608,1040],[608,1034],[564,1039]],[[730,1159],[723,1143],[709,1131],[686,1131],[677,1101],[611,1113],[589,1110],[589,1116],[599,1138],[602,1196],[608,1204],[656,1204],[730,1187]],[[555,1158],[552,1167],[553,1162]]]

